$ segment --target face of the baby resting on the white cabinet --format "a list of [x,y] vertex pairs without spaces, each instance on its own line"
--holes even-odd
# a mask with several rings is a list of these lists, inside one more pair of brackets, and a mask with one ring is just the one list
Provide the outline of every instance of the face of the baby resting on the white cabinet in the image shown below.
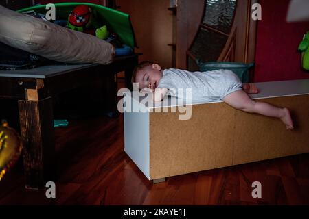
[[152,66],[146,66],[137,71],[136,82],[139,83],[140,89],[155,89],[159,85],[162,75],[161,67],[158,64],[152,64]]

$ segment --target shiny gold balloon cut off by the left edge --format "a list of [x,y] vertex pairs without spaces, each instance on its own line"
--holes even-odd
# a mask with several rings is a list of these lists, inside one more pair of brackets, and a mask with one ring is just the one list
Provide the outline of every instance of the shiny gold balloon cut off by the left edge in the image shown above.
[[2,121],[0,126],[0,181],[21,155],[23,144],[19,134]]

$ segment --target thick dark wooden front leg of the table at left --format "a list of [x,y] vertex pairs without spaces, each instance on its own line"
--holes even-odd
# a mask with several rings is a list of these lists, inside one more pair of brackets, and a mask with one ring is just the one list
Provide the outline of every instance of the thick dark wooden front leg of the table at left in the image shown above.
[[55,143],[52,98],[19,101],[21,136],[24,141],[25,187],[43,189],[55,179]]

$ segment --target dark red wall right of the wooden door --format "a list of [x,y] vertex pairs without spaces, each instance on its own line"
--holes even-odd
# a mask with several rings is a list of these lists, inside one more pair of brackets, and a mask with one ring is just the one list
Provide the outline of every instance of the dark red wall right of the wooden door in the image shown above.
[[286,23],[289,2],[260,0],[255,82],[309,79],[309,72],[301,69],[301,53],[297,51],[309,31],[309,22]]

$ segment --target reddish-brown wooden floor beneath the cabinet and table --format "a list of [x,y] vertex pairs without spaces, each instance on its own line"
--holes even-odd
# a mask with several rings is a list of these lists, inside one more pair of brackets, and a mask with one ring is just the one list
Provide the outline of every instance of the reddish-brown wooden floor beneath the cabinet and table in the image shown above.
[[[56,129],[56,199],[24,189],[19,161],[0,181],[0,205],[309,205],[309,154],[154,185],[124,153],[123,129],[122,115],[71,120]],[[262,183],[262,198],[252,198],[253,181]]]

